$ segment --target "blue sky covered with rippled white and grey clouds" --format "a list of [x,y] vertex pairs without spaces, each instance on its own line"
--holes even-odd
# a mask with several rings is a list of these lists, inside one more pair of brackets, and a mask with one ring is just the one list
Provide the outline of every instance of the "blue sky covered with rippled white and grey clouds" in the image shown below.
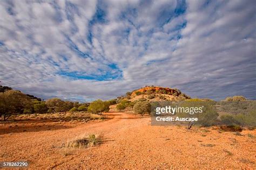
[[256,2],[0,1],[0,81],[43,99],[146,85],[256,100]]

